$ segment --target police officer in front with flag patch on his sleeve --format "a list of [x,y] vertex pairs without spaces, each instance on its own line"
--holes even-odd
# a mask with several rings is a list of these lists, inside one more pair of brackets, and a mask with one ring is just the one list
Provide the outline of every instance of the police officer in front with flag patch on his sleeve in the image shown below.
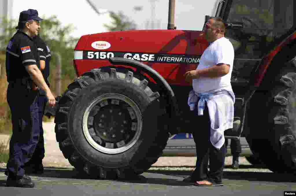
[[24,175],[24,163],[33,155],[39,140],[38,87],[45,91],[49,106],[55,98],[39,70],[39,55],[33,37],[40,29],[37,10],[20,12],[19,29],[10,39],[6,52],[8,81],[7,102],[12,115],[12,137],[9,143],[7,186],[34,187]]

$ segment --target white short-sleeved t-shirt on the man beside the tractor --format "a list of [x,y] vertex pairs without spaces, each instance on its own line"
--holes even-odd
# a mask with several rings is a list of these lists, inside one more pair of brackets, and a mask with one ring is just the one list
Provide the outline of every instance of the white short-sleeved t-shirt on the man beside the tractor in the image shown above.
[[200,57],[200,64],[196,68],[205,69],[219,63],[230,65],[229,73],[219,78],[201,77],[192,80],[192,86],[196,93],[204,93],[216,89],[225,89],[232,92],[230,79],[233,68],[234,49],[231,42],[221,37],[212,42]]

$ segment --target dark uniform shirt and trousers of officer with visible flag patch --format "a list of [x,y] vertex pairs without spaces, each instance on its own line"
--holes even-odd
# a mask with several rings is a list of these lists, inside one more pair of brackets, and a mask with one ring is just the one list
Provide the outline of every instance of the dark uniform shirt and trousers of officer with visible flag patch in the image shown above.
[[39,65],[39,55],[33,39],[17,31],[10,39],[6,52],[7,102],[12,115],[12,137],[6,174],[10,179],[24,176],[24,163],[33,155],[39,140],[38,90],[31,88],[25,66]]

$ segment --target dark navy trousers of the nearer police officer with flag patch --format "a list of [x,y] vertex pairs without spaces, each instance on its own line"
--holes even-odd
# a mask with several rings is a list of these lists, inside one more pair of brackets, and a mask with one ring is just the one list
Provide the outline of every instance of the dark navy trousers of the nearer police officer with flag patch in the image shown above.
[[9,83],[7,102],[12,116],[12,137],[6,174],[21,178],[25,173],[24,164],[32,157],[39,140],[38,91]]

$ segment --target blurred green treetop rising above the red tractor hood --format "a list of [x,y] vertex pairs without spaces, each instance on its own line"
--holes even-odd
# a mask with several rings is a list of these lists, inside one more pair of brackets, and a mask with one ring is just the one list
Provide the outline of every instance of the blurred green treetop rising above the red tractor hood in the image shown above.
[[130,21],[122,12],[118,12],[118,14],[110,12],[110,17],[113,19],[112,25],[104,24],[104,27],[109,31],[136,29],[136,24],[133,21]]

